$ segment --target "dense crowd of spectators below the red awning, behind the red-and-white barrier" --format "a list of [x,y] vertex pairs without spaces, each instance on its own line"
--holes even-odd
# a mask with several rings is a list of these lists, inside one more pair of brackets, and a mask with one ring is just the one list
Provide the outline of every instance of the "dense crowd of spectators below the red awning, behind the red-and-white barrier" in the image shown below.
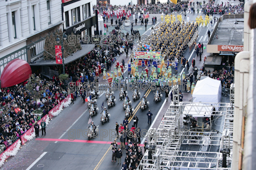
[[[40,74],[33,74],[21,84],[0,90],[0,145],[4,150],[67,95],[59,77],[53,77],[53,81],[42,80],[40,77]],[[28,84],[31,89],[28,89]],[[39,97],[33,96],[35,91]],[[41,110],[41,114],[35,114],[34,110]]]

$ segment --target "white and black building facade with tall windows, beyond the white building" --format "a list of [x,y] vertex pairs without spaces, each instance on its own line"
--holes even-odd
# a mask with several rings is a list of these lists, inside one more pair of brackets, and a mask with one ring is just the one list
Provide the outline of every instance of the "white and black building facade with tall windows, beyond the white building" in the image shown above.
[[91,0],[62,0],[62,12],[66,34],[94,35],[96,17]]

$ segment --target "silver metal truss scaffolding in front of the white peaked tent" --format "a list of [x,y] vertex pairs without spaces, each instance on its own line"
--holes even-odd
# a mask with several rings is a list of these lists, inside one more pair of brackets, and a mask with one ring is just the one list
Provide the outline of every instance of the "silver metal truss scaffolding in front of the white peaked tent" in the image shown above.
[[[210,116],[211,129],[185,126],[184,116],[193,115],[187,106]],[[233,112],[231,103],[172,102],[158,129],[149,132],[150,147],[137,169],[231,169]]]

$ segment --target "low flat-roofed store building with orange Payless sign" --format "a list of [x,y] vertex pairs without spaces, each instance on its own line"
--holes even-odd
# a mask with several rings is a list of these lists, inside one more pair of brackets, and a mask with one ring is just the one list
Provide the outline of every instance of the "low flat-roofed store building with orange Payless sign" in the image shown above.
[[[235,55],[244,50],[244,14],[222,15],[207,43],[206,70],[233,66]],[[208,35],[204,35],[208,38]]]

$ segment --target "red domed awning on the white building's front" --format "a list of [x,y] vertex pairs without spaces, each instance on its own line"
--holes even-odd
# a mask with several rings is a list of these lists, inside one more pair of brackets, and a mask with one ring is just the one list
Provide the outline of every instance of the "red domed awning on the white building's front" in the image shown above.
[[27,61],[14,59],[10,61],[1,74],[1,88],[11,87],[27,80],[32,70]]

